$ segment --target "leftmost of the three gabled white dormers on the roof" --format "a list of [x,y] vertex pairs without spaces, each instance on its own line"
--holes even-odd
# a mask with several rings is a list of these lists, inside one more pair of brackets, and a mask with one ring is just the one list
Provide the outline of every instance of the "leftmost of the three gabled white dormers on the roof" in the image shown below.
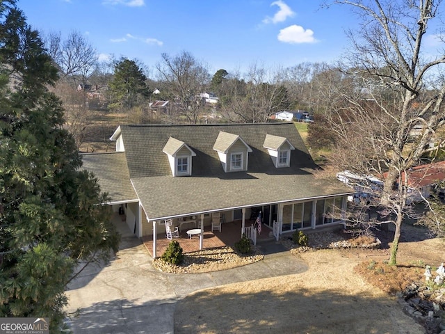
[[192,175],[192,157],[195,157],[196,153],[184,141],[170,137],[162,152],[168,156],[173,176]]

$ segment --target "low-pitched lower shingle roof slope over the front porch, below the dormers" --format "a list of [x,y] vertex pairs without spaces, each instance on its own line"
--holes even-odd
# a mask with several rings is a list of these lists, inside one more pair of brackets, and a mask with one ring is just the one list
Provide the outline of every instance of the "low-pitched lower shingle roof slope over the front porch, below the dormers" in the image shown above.
[[132,181],[152,220],[350,193],[350,188],[343,184],[332,186],[326,180],[316,179],[312,172],[314,170],[300,170],[297,175],[230,173],[225,179],[136,177]]

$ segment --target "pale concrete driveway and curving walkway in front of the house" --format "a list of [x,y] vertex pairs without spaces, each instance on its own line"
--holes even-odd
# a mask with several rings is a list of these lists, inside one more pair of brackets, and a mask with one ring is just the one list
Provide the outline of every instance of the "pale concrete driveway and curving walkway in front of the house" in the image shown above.
[[[173,333],[176,303],[191,292],[219,285],[300,273],[307,266],[275,241],[264,244],[264,260],[225,271],[162,273],[124,224],[120,250],[109,264],[87,267],[69,286],[69,324],[75,334]],[[217,302],[217,301],[216,301]]]

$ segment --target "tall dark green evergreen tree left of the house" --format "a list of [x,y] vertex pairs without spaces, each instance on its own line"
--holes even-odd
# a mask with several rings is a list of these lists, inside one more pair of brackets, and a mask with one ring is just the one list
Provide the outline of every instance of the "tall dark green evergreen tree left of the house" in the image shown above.
[[80,262],[117,249],[97,180],[80,170],[57,70],[14,0],[0,1],[0,317],[63,328],[65,286]]

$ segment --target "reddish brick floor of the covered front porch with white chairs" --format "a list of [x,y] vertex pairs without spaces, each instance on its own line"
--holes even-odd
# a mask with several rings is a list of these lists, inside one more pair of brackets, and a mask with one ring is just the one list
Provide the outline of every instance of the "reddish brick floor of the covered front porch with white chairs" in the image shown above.
[[[245,227],[249,227],[253,224],[253,221],[245,221]],[[211,232],[210,226],[204,226],[204,239],[202,240],[202,248],[216,248],[223,246],[234,247],[235,243],[241,239],[241,221],[230,221],[223,223],[222,232]],[[272,230],[268,226],[263,225],[261,229],[261,234],[257,236],[257,242],[262,239],[270,239],[269,232]],[[195,252],[200,250],[200,237],[199,235],[194,235],[191,239],[188,237],[187,230],[182,230],[179,234],[179,238],[174,240],[179,242],[184,253]],[[143,243],[145,248],[147,248],[148,253],[153,255],[153,237],[147,236],[143,237]],[[156,256],[161,256],[165,249],[167,248],[170,240],[165,237],[165,233],[157,234],[157,244],[156,244]]]

